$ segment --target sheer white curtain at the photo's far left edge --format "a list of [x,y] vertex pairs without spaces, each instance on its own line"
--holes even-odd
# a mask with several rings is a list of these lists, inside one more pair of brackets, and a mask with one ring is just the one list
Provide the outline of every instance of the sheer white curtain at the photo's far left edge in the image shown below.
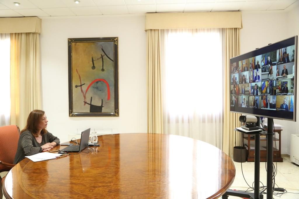
[[10,34],[0,34],[0,126],[10,124]]

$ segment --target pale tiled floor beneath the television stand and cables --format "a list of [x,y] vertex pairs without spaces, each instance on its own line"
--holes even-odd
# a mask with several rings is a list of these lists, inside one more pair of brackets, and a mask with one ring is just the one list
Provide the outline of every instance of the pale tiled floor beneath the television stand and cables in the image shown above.
[[[236,167],[236,177],[234,183],[232,184],[230,189],[237,190],[246,190],[248,185],[246,184],[241,170],[241,163],[234,162]],[[274,162],[276,167],[276,163]],[[252,186],[254,182],[254,162],[245,162],[242,163],[243,174],[247,181],[247,183]],[[260,163],[260,181],[266,186],[267,185],[267,173],[265,162]],[[286,193],[282,195],[273,195],[273,198],[281,198],[281,199],[299,199],[299,166],[290,162],[289,157],[283,157],[283,162],[277,162],[277,175],[275,176],[275,187],[279,186],[287,190]],[[262,186],[262,184],[260,184]],[[252,191],[253,192],[253,191]],[[275,192],[277,193],[277,192]],[[282,193],[282,192],[278,192]],[[229,196],[229,199],[240,199],[239,197]],[[266,199],[266,194],[264,195]]]

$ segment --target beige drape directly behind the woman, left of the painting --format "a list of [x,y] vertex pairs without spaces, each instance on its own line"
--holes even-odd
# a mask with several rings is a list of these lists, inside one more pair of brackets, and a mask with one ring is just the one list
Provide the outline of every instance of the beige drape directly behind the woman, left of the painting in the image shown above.
[[10,124],[25,127],[33,109],[41,109],[39,33],[10,35]]

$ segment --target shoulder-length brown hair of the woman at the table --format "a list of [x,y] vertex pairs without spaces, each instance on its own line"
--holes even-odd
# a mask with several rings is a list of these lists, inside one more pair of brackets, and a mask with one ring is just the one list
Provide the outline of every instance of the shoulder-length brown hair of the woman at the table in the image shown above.
[[[24,132],[26,130],[30,131],[35,137],[38,137],[38,126],[42,121],[42,117],[44,116],[45,111],[42,110],[33,110],[29,113],[27,118],[26,127],[21,131]],[[47,132],[46,129],[42,129],[41,135],[44,135]]]

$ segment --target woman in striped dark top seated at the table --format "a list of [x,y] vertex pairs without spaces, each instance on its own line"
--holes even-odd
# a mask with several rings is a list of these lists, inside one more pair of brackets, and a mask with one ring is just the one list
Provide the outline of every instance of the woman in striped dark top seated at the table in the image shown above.
[[27,118],[26,127],[21,131],[14,164],[19,163],[28,155],[53,149],[60,140],[46,130],[47,116],[42,110],[33,110]]

